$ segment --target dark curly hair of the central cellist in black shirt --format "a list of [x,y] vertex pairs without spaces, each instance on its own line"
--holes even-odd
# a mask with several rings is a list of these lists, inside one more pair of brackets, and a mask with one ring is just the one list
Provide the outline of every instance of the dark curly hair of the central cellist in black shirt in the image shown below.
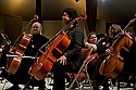
[[73,21],[74,18],[78,17],[77,11],[71,8],[66,8],[63,13],[66,12],[70,20]]

